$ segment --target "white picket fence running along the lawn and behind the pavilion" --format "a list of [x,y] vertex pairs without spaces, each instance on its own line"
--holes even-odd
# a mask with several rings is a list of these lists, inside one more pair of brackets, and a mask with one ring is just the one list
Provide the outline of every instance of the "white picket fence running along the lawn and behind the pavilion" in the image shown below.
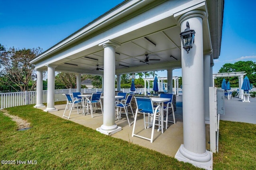
[[[123,92],[130,92],[130,88],[122,88]],[[101,88],[84,88],[81,89],[81,93],[96,93],[101,92]],[[66,96],[63,94],[71,94],[76,92],[76,89],[60,89],[54,90],[54,101],[64,101]],[[144,88],[137,88],[136,93],[144,93]],[[43,90],[43,103],[47,102],[47,90]],[[10,92],[0,93],[0,109],[10,108],[14,106],[22,106],[27,104],[36,104],[36,91],[25,92]]]

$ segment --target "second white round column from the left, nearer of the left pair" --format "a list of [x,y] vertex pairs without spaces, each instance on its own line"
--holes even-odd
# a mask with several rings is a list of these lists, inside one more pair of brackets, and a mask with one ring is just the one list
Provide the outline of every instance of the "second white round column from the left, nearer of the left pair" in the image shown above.
[[54,107],[54,89],[55,89],[55,65],[47,64],[47,108],[44,110],[45,112],[55,112],[58,111]]

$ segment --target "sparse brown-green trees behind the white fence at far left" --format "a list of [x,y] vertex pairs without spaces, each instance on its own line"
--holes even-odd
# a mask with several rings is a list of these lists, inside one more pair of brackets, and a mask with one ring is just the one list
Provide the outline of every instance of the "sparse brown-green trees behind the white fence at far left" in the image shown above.
[[[30,60],[42,52],[40,47],[32,49],[16,49],[14,47],[6,50],[0,45],[0,68],[2,78],[0,81],[11,86],[16,91],[33,90],[36,81],[31,80],[31,74],[34,72],[34,64]],[[4,77],[4,78],[3,78]],[[31,83],[31,86],[29,84]]]

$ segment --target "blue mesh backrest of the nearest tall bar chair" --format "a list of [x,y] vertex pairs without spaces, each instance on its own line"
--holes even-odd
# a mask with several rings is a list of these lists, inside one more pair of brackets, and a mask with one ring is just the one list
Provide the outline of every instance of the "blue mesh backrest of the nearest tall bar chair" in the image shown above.
[[153,102],[151,98],[134,97],[138,112],[154,113]]

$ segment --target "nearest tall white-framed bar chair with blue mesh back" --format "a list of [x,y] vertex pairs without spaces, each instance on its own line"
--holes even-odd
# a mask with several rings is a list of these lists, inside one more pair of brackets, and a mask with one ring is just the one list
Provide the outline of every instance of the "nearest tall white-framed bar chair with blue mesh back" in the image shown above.
[[[135,113],[135,118],[134,118],[134,124],[132,128],[132,137],[137,136],[142,139],[150,140],[150,142],[153,142],[153,136],[154,136],[154,128],[155,125],[161,126],[161,132],[164,133],[163,130],[163,116],[160,110],[162,110],[161,106],[157,106],[155,109],[153,107],[153,102],[151,98],[140,98],[140,97],[134,97],[135,102],[136,102],[136,113]],[[151,137],[146,138],[144,136],[140,136],[138,134],[134,133],[135,127],[136,127],[136,121],[137,121],[137,116],[138,113],[143,114],[143,119],[144,119],[144,128],[146,129],[146,123],[152,125],[152,132],[151,132]],[[145,115],[148,115],[152,121],[146,122]],[[156,119],[156,116],[158,116],[158,119]],[[156,124],[156,120],[158,120],[158,124]]]

